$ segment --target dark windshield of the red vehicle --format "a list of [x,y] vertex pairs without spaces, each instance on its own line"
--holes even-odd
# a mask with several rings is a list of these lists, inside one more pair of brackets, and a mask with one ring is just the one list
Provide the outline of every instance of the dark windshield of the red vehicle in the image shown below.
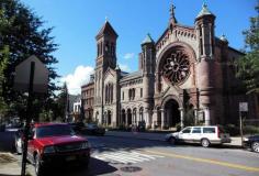
[[69,125],[44,125],[36,129],[36,138],[72,135],[74,131]]

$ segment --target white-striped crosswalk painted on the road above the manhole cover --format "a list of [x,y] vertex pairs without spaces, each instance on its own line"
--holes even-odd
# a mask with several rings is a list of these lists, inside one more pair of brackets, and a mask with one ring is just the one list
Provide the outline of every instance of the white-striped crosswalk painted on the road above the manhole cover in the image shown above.
[[95,154],[92,157],[97,160],[101,160],[104,162],[116,163],[116,164],[135,164],[142,162],[154,161],[159,157],[159,155],[147,155],[138,152],[127,152],[127,151],[116,151],[116,152],[108,152],[102,154]]

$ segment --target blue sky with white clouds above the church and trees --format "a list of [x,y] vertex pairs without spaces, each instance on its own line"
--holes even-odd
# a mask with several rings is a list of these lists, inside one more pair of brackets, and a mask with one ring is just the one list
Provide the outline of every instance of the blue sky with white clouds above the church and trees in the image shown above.
[[169,9],[173,3],[178,23],[194,25],[194,19],[205,2],[216,15],[215,35],[225,34],[229,46],[245,46],[243,31],[249,29],[249,18],[257,0],[21,0],[44,26],[54,26],[52,36],[58,50],[53,53],[59,61],[55,65],[58,82],[67,82],[69,94],[80,94],[80,86],[89,81],[93,73],[97,45],[95,35],[105,22],[112,24],[117,38],[117,64],[126,72],[137,70],[140,43],[150,33],[157,41],[169,22]]

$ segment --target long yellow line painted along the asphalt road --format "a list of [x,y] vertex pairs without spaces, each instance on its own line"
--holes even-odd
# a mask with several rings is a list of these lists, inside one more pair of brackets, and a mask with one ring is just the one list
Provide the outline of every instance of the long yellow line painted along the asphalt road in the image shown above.
[[221,165],[221,166],[226,166],[226,167],[233,167],[233,168],[244,169],[244,170],[248,170],[248,172],[259,172],[259,167],[250,167],[250,166],[233,164],[233,163],[228,163],[228,162],[221,162],[221,161],[209,160],[209,158],[200,158],[200,157],[193,157],[193,156],[188,156],[188,155],[179,155],[176,153],[164,153],[164,152],[157,152],[157,151],[145,151],[145,152],[158,154],[158,155],[162,155],[162,156],[184,158],[184,160],[189,160],[189,161],[210,163],[210,164],[215,164],[215,165]]

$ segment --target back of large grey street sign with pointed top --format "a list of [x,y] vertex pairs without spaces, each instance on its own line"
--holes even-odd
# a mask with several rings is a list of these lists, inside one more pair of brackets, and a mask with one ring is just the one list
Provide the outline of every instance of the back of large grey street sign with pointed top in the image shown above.
[[48,69],[34,55],[15,67],[14,90],[27,92],[30,85],[31,63],[34,64],[33,92],[46,92],[48,86]]

